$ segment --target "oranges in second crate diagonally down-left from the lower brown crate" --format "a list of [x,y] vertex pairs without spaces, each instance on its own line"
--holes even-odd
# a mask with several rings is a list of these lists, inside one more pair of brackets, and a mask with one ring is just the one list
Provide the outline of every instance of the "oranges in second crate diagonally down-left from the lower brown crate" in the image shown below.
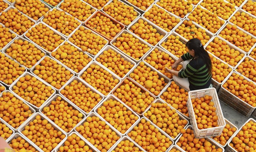
[[75,129],[101,152],[109,150],[120,139],[120,136],[97,116],[87,117],[86,121]]

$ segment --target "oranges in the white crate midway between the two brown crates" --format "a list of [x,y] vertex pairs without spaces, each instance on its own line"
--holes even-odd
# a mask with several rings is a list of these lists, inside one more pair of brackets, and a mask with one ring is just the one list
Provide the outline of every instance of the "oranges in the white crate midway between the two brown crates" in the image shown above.
[[132,62],[126,60],[120,53],[113,49],[104,51],[96,58],[96,61],[107,67],[107,69],[114,72],[120,78],[124,78],[125,74],[127,74],[134,66]]

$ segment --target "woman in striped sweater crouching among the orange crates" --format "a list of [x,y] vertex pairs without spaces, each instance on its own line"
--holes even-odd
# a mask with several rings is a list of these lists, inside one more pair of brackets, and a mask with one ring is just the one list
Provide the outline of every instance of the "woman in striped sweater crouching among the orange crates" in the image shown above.
[[173,65],[175,69],[183,62],[183,70],[175,71],[166,68],[172,74],[173,80],[187,90],[209,88],[211,85],[211,58],[199,39],[191,39],[186,43],[188,53],[179,58]]

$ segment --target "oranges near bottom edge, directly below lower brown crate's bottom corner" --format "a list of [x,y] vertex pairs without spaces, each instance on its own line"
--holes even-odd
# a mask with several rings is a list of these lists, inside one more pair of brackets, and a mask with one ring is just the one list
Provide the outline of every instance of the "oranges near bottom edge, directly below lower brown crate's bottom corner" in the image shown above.
[[127,134],[147,152],[165,152],[172,145],[172,140],[163,135],[154,125],[144,118]]

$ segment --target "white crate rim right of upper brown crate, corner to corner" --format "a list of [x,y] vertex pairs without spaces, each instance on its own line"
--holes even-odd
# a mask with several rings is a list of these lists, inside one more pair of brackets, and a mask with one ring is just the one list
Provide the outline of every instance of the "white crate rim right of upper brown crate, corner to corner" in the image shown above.
[[[160,35],[163,35],[163,38],[162,38],[162,39],[165,39],[165,36],[167,35],[167,32],[165,32],[165,30],[159,28],[158,26],[154,25],[153,23],[147,21],[147,19],[142,18],[142,17],[137,18],[136,21],[134,21],[133,24],[131,24],[131,25],[129,25],[129,27],[127,27],[127,30],[130,31],[131,27],[132,27],[134,24],[138,23],[139,19],[142,19],[144,22],[146,21],[146,22],[148,23],[148,25],[151,25],[153,28],[156,29],[157,33],[159,33]],[[131,31],[130,31],[130,32],[131,32]],[[133,32],[131,32],[131,33],[133,33]],[[162,39],[161,39],[161,40],[162,40]],[[143,40],[143,39],[142,39],[142,40]],[[160,40],[159,42],[161,42],[161,40]],[[143,40],[143,41],[144,41],[145,43],[149,44],[149,43],[146,42],[145,40]],[[159,44],[159,42],[158,42],[155,46],[157,46],[157,45]],[[150,45],[150,44],[149,44],[149,45]],[[150,45],[150,46],[153,46],[153,45]],[[155,47],[155,46],[153,46],[153,47]]]

